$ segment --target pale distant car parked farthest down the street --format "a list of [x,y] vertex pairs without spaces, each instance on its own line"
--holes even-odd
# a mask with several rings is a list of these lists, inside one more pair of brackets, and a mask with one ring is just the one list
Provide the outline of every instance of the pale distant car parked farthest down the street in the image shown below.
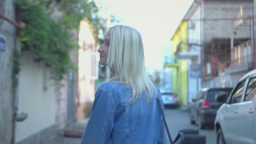
[[177,108],[179,106],[177,94],[171,90],[161,90],[161,95],[163,98],[164,106],[172,108]]

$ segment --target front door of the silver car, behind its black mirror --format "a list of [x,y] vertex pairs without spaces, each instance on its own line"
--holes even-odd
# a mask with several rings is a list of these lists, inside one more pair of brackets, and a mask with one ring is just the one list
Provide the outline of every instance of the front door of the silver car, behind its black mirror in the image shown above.
[[222,130],[227,144],[240,144],[236,141],[237,134],[235,126],[237,124],[237,109],[241,106],[242,95],[245,92],[245,83],[246,80],[236,85],[236,88],[233,90],[230,98],[228,98],[228,105],[223,111]]

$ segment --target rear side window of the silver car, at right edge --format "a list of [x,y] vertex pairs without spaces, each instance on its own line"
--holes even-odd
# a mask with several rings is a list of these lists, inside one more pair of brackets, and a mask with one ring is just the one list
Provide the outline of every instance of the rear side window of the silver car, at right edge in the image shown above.
[[250,79],[248,88],[246,90],[244,101],[252,101],[255,95],[256,95],[256,77]]

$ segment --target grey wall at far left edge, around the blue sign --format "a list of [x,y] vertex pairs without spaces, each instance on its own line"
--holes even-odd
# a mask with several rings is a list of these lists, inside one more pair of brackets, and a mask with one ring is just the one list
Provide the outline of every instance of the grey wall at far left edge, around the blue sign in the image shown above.
[[[1,0],[0,13],[15,20],[13,0]],[[16,32],[15,27],[2,18],[0,18],[0,35],[6,37],[6,49],[0,51],[0,144],[10,144],[13,134],[12,54],[16,43]]]

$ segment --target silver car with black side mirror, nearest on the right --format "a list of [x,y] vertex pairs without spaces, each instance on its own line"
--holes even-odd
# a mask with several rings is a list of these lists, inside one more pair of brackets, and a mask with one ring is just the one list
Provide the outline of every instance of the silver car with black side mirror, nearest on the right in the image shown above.
[[[217,95],[216,100],[224,102],[225,97]],[[225,102],[214,122],[217,144],[256,144],[256,70],[240,79]]]

